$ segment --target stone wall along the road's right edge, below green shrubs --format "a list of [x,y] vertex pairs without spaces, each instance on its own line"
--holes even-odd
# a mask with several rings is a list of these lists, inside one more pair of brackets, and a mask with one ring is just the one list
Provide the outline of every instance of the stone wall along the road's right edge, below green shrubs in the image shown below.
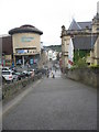
[[99,68],[75,68],[66,72],[66,77],[89,85],[99,87]]

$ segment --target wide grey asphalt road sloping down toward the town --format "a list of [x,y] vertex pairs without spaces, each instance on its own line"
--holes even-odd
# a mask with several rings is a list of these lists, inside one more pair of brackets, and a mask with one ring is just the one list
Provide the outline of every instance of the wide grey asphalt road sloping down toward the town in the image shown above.
[[55,75],[42,79],[3,116],[3,130],[97,129],[97,90]]

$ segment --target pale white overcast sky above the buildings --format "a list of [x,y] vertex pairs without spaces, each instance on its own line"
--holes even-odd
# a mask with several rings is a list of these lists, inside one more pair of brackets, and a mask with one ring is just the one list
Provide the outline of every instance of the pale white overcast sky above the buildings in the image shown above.
[[0,35],[23,24],[43,31],[43,45],[59,45],[62,25],[91,21],[98,0],[0,0]]

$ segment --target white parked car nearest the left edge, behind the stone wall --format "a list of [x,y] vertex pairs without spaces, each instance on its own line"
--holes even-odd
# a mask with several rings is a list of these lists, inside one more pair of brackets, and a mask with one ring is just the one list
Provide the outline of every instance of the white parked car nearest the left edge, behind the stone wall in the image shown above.
[[12,73],[10,70],[2,70],[2,78],[6,81],[13,81],[13,76],[12,76]]

